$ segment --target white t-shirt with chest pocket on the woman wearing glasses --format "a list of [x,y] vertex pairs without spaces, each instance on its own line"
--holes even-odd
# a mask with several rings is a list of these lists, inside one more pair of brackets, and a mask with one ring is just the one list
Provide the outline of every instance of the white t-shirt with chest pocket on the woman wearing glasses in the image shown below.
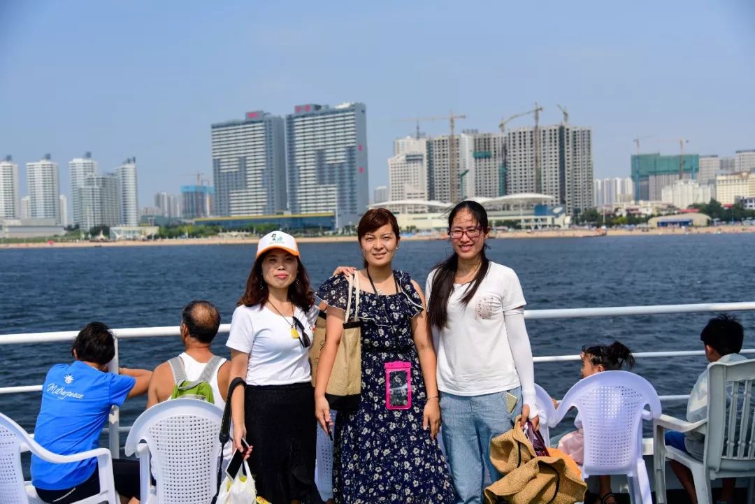
[[[435,273],[433,270],[427,277],[427,296],[433,290]],[[513,269],[491,262],[477,292],[465,306],[461,298],[467,286],[454,284],[448,300],[448,322],[442,330],[433,327],[438,389],[464,396],[515,389],[520,385],[519,374],[504,312],[525,305],[519,278]]]

